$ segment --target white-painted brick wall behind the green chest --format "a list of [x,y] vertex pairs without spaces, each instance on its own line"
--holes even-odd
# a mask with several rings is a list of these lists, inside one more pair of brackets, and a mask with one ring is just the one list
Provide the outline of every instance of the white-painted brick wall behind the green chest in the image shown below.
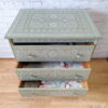
[[86,9],[98,27],[103,39],[93,57],[108,57],[108,1],[107,0],[0,0],[0,57],[13,57],[4,35],[19,9]]

